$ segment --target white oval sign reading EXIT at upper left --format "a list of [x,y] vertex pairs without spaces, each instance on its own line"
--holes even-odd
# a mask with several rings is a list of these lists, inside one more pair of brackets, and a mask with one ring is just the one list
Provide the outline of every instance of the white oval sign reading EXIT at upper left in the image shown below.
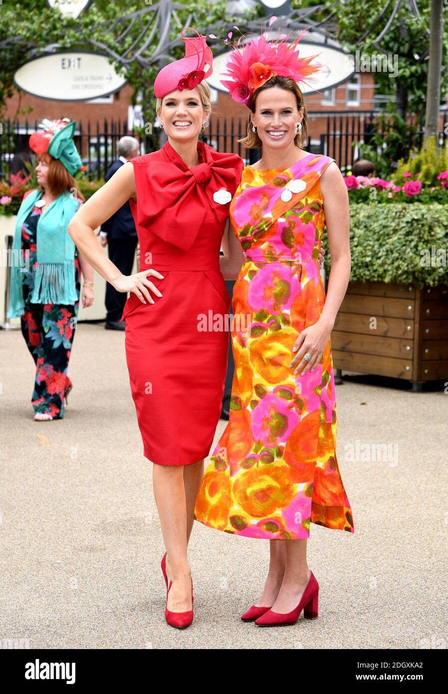
[[126,85],[109,58],[90,51],[61,51],[25,62],[13,81],[22,92],[51,101],[87,101]]

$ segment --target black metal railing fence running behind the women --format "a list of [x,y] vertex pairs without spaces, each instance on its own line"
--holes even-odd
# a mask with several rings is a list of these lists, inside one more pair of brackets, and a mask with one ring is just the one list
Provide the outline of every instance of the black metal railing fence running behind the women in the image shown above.
[[[445,123],[447,111],[441,112],[442,130],[439,141],[445,144],[447,133]],[[415,133],[408,136],[408,146],[419,147],[422,144],[424,131],[422,122],[415,116],[408,119],[408,124],[415,126]],[[24,124],[7,120],[0,130],[0,178],[24,167],[31,171],[35,164],[35,155],[30,152],[28,138],[38,129],[38,121],[26,120]],[[210,126],[203,133],[202,139],[218,151],[233,151],[252,164],[260,157],[259,150],[247,150],[238,142],[247,133],[247,121],[242,118],[227,119],[212,117]],[[358,155],[357,146],[369,144],[375,139],[381,142],[388,134],[388,127],[381,130],[379,112],[369,111],[310,111],[308,114],[309,144],[307,149],[326,154],[336,160],[343,169],[350,166]],[[75,133],[75,142],[83,163],[87,167],[89,178],[103,178],[110,164],[118,156],[118,142],[123,135],[137,137],[141,153],[158,149],[160,130],[154,129],[153,135],[139,137],[134,130],[128,131],[127,121],[103,121],[96,126],[90,121],[79,122]]]

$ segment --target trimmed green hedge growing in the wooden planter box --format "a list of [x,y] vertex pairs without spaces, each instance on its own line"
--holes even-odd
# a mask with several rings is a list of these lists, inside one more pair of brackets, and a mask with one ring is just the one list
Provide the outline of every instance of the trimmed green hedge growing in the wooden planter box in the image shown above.
[[[322,245],[329,269],[327,235]],[[350,205],[350,249],[351,282],[448,285],[448,207],[437,203]],[[429,266],[420,264],[424,249],[429,252]]]

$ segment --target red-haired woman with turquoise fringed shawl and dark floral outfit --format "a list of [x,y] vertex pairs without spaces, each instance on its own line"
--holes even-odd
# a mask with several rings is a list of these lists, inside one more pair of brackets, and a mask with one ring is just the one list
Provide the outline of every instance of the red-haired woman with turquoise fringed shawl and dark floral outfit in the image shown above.
[[[75,122],[67,126],[66,121],[45,119],[45,133],[30,137],[31,149],[39,155],[40,187],[25,194],[15,233],[15,251],[20,251],[15,257],[21,260],[20,266],[17,262],[12,266],[8,316],[20,316],[21,332],[36,365],[31,398],[36,421],[62,419],[67,407],[72,388],[67,369],[78,316],[81,264],[83,305],[93,303],[93,269],[78,255],[67,232],[68,222],[82,204],[70,192],[75,188],[72,174],[82,162],[71,139]],[[51,214],[51,221],[40,226]]]

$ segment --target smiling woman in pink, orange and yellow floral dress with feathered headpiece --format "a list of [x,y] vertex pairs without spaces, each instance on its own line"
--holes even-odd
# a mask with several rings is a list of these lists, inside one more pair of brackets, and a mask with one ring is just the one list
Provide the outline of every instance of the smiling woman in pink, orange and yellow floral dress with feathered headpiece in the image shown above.
[[[225,279],[243,262],[232,302],[230,420],[195,509],[216,530],[270,540],[263,594],[242,616],[259,626],[294,623],[302,609],[318,614],[310,523],[354,532],[336,459],[329,339],[350,277],[348,198],[334,160],[299,149],[307,121],[297,82],[311,66],[295,47],[263,36],[245,44],[227,63],[234,81],[223,81],[250,107],[244,144],[263,150],[230,205]],[[326,224],[327,297],[317,262]]]

